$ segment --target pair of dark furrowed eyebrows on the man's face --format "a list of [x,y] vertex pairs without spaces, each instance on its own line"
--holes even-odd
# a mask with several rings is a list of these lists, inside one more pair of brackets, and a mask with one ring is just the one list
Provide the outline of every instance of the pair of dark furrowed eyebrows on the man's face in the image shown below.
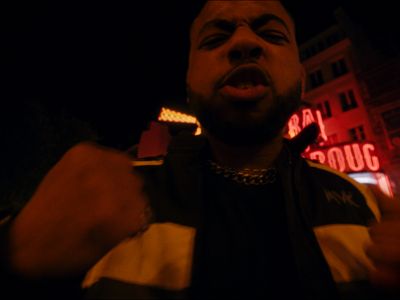
[[[273,14],[263,14],[263,15],[255,18],[254,20],[252,20],[250,22],[250,26],[253,30],[257,30],[260,27],[264,26],[265,24],[267,24],[271,21],[278,22],[283,27],[285,27],[285,29],[288,31],[288,33],[290,33],[289,26],[286,24],[286,22],[282,18],[280,18],[276,15],[273,15]],[[206,22],[202,26],[202,28],[199,31],[199,35],[203,34],[206,30],[208,30],[210,28],[217,28],[217,29],[221,29],[223,31],[233,32],[233,31],[235,31],[236,26],[237,26],[236,21],[229,21],[226,19],[214,19],[214,20]]]

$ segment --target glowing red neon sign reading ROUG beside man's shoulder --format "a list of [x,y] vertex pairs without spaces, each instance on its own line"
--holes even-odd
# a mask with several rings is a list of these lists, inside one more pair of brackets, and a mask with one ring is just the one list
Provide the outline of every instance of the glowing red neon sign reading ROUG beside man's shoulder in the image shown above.
[[375,146],[370,143],[352,143],[319,149],[305,153],[305,156],[340,172],[376,172],[380,169]]

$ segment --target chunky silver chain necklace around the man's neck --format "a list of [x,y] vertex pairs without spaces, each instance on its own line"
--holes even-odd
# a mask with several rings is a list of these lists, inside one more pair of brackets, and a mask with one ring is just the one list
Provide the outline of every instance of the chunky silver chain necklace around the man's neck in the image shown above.
[[223,167],[212,160],[209,160],[208,164],[215,174],[222,175],[239,184],[265,185],[276,181],[277,171],[275,168],[237,170],[234,168]]

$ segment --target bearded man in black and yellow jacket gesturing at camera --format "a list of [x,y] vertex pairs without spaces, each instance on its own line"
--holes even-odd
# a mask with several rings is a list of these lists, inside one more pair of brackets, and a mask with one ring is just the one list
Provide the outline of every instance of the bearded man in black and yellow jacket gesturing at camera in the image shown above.
[[205,136],[178,137],[135,173],[116,151],[72,148],[3,221],[10,276],[81,275],[88,299],[378,297],[368,276],[398,288],[397,203],[383,202],[367,256],[372,194],[283,140],[303,86],[297,52],[278,1],[208,1],[187,73]]

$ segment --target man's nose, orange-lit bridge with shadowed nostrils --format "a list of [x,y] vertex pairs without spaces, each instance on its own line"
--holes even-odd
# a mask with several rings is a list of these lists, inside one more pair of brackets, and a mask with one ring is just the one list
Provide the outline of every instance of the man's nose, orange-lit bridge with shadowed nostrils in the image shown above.
[[263,48],[258,41],[258,36],[247,28],[238,28],[232,37],[231,48],[228,52],[232,64],[247,61],[257,61],[263,54]]

